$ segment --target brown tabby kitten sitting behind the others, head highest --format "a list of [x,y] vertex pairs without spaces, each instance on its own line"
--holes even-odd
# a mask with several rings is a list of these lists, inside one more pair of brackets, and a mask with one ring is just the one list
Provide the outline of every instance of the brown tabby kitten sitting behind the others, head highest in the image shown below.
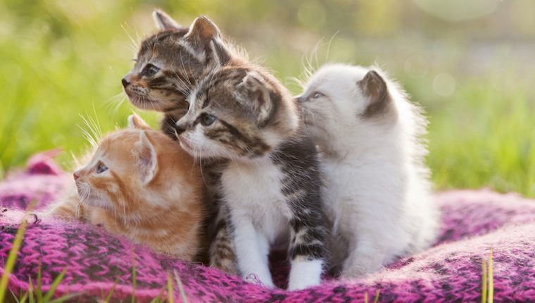
[[[235,66],[248,59],[244,51],[230,44],[204,16],[196,18],[189,28],[180,27],[163,11],[154,11],[153,19],[160,30],[141,42],[136,64],[122,78],[122,85],[134,106],[165,114],[161,128],[176,140],[175,123],[186,114],[189,106],[186,99],[196,82],[218,66]],[[216,190],[220,166],[225,160],[205,160],[201,164],[206,184],[203,195],[210,211],[205,223],[206,236],[213,243],[206,262],[238,274],[234,244],[227,230],[232,226],[225,221],[226,209],[219,209]]]

